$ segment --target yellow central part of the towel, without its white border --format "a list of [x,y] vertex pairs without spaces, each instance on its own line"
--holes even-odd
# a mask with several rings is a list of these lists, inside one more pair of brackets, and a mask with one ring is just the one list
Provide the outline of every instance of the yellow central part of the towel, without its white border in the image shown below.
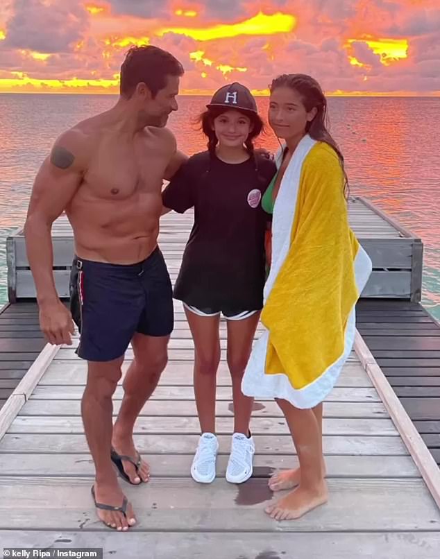
[[316,144],[301,172],[290,250],[262,311],[266,374],[285,372],[294,388],[310,384],[342,354],[359,297],[353,266],[359,243],[342,184],[335,150]]

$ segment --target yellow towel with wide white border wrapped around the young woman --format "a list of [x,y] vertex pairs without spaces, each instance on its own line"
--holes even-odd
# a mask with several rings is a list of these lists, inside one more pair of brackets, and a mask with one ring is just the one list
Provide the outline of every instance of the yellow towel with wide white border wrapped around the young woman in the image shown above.
[[267,332],[242,389],[312,407],[335,385],[353,347],[354,307],[371,260],[350,230],[337,154],[309,136],[282,180],[272,251],[261,317]]

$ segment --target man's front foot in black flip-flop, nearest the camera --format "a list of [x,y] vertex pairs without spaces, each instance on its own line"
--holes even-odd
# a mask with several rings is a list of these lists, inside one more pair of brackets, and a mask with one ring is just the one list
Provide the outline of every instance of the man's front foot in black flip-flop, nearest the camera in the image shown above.
[[[104,485],[94,483],[92,487],[96,514],[106,526],[115,528],[117,531],[127,531],[130,526],[136,524],[133,507],[127,502],[126,496],[119,488],[118,483]],[[113,510],[105,510],[106,507],[114,507]],[[119,510],[116,510],[119,508]],[[125,510],[125,513],[124,513]]]

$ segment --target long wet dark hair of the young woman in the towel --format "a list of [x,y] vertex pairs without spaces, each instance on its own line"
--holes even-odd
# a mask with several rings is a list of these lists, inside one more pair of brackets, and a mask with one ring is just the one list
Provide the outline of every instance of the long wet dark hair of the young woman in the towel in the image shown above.
[[272,81],[270,92],[272,93],[275,91],[277,87],[290,87],[291,89],[294,89],[294,91],[298,92],[307,112],[310,112],[314,107],[316,107],[316,115],[312,121],[307,122],[305,131],[314,140],[325,141],[325,143],[332,147],[337,153],[339,162],[341,163],[342,172],[344,173],[344,195],[348,198],[349,185],[344,166],[344,155],[342,155],[335,139],[333,139],[332,135],[328,131],[327,99],[323,94],[321,86],[314,78],[307,76],[306,74],[282,74]]

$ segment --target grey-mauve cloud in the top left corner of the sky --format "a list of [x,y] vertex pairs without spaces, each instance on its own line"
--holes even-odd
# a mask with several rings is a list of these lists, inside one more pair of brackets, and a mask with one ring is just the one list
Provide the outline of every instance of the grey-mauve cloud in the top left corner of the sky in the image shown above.
[[88,16],[74,0],[48,4],[42,0],[15,0],[14,15],[6,24],[6,45],[40,53],[71,50],[83,38]]

